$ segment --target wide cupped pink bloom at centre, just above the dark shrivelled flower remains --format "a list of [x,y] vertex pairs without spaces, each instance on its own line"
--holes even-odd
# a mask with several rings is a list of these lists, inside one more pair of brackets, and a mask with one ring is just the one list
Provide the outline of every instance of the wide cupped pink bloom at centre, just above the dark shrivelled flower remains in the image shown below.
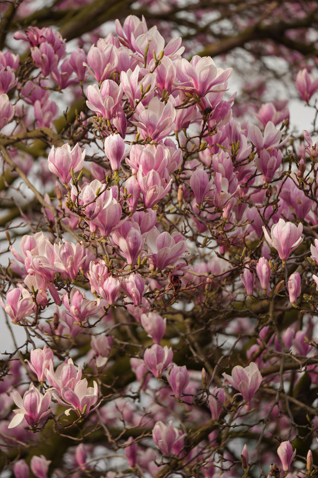
[[147,234],[147,245],[149,246],[155,261],[156,267],[164,269],[184,256],[187,248],[186,241],[179,233],[159,233],[157,228]]

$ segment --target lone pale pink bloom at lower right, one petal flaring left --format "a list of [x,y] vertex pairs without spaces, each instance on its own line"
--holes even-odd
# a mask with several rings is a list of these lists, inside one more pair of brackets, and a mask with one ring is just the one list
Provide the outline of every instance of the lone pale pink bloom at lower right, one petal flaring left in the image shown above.
[[262,376],[255,362],[251,362],[245,368],[236,365],[232,370],[232,375],[228,375],[227,373],[223,373],[222,375],[225,379],[224,384],[230,383],[233,388],[239,390],[243,400],[247,402],[248,405],[262,383]]

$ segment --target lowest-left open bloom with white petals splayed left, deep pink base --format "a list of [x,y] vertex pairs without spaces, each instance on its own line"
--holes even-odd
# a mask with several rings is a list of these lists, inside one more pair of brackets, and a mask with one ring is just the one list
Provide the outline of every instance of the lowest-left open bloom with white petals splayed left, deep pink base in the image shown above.
[[49,408],[51,402],[51,392],[46,391],[44,395],[31,383],[29,389],[24,393],[23,399],[19,392],[13,392],[13,401],[19,407],[13,410],[15,416],[10,421],[8,428],[18,426],[23,418],[33,427],[42,419],[47,417],[52,410]]

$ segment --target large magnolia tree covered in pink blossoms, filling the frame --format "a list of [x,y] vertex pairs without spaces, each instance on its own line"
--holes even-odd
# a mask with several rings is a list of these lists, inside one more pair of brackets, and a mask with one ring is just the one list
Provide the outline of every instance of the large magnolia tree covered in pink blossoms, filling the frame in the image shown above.
[[1,476],[314,477],[316,125],[115,27],[0,52]]

